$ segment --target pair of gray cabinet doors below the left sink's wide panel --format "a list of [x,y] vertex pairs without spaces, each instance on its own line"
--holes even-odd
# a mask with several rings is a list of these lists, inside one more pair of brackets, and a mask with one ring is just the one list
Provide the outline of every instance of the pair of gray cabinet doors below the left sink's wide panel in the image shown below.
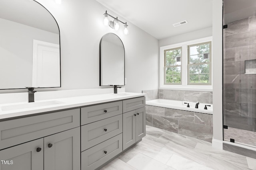
[[[0,150],[0,170],[80,170],[80,127]],[[12,163],[11,164],[11,160]]]

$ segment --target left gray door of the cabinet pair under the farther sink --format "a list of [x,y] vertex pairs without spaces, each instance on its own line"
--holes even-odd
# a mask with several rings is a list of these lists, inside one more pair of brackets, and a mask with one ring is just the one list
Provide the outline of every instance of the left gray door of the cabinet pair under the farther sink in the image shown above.
[[136,111],[123,114],[123,150],[136,142]]

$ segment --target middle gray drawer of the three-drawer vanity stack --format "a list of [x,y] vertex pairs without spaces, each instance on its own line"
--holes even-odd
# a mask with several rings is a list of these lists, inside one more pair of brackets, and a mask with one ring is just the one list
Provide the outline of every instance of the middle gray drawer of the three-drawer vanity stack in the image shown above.
[[122,115],[96,121],[81,127],[81,151],[106,141],[123,131]]

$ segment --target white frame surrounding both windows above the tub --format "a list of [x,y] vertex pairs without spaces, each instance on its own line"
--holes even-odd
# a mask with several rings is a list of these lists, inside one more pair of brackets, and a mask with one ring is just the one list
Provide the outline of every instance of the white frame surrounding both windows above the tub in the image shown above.
[[[212,36],[160,47],[160,50],[159,50],[160,51],[159,88],[160,89],[173,89],[173,90],[212,91],[212,84],[211,85],[188,85],[188,46],[194,45],[194,44],[199,44],[199,43],[204,43],[204,42],[209,42],[209,41],[212,42]],[[212,44],[213,43],[211,43],[211,45]],[[182,59],[182,62],[181,62],[182,63],[182,66],[181,66],[181,68],[182,68],[182,70],[181,70],[182,84],[180,84],[180,85],[164,84],[164,72],[165,72],[165,70],[164,70],[164,50],[174,49],[174,48],[178,48],[178,47],[182,47],[182,57],[181,57],[181,59]],[[212,50],[211,50],[211,57],[213,57]],[[211,68],[212,68],[212,70],[214,69],[212,65],[211,65]],[[211,70],[211,74],[213,73],[212,70]]]

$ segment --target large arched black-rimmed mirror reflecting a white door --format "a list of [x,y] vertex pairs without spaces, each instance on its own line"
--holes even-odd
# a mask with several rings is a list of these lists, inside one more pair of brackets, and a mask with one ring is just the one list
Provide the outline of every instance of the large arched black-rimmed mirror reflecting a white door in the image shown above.
[[60,32],[34,0],[0,0],[0,89],[60,87]]

